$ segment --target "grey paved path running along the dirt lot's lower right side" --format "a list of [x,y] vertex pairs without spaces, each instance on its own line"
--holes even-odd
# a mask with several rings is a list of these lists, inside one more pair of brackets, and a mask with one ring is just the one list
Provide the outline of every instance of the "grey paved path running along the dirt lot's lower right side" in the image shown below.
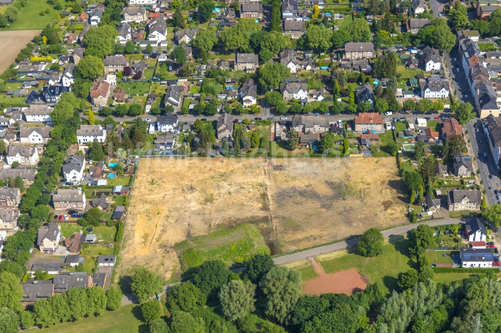
[[[392,235],[398,235],[405,233],[411,229],[416,228],[419,224],[427,224],[429,226],[436,226],[436,225],[445,225],[445,224],[454,224],[454,223],[464,223],[464,220],[461,220],[459,218],[441,218],[441,219],[434,219],[431,221],[426,221],[426,222],[421,222],[421,223],[413,223],[413,224],[405,224],[401,226],[397,226],[391,229],[383,230],[381,233],[383,234],[384,237],[390,237]],[[287,262],[293,262],[297,260],[302,260],[306,259],[309,257],[314,257],[322,253],[328,253],[328,252],[333,252],[341,249],[345,249],[350,246],[354,246],[358,243],[358,237],[351,238],[345,241],[340,241],[334,244],[329,244],[329,245],[324,245],[324,246],[319,246],[315,248],[311,248],[308,250],[304,250],[301,252],[296,252],[292,254],[285,254],[282,256],[278,256],[274,258],[273,260],[275,261],[275,264],[282,264],[282,263],[287,263]]]

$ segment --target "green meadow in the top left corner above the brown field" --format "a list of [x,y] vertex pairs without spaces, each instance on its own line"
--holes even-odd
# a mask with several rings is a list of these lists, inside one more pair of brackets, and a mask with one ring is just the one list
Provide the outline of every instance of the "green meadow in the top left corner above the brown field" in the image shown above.
[[[48,10],[48,13],[45,12],[46,10]],[[43,15],[41,15],[42,12]],[[54,18],[54,15],[60,12],[60,10],[55,10],[47,1],[27,0],[16,21],[10,23],[9,27],[2,28],[2,30],[43,29]]]

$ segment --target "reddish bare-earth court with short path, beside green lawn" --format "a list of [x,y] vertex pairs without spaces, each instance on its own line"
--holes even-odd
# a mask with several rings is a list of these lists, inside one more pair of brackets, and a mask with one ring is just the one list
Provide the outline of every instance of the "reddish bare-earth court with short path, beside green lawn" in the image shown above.
[[357,271],[357,268],[327,274],[315,259],[310,259],[310,262],[318,276],[303,281],[304,294],[320,295],[322,293],[334,292],[351,295],[367,287],[367,282]]

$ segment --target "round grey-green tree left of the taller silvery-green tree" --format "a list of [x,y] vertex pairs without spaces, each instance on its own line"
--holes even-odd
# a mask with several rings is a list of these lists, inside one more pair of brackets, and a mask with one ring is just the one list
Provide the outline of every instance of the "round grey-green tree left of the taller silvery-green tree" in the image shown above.
[[231,280],[221,287],[219,301],[222,313],[233,321],[255,310],[256,285],[250,281]]

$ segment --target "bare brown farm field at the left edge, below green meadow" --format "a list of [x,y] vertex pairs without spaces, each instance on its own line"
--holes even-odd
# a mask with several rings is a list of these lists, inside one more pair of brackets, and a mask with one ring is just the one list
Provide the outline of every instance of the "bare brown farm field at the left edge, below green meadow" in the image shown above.
[[0,31],[0,49],[2,49],[2,59],[0,60],[0,73],[3,73],[11,63],[14,62],[19,51],[28,44],[33,37],[40,34],[42,30],[13,30]]

